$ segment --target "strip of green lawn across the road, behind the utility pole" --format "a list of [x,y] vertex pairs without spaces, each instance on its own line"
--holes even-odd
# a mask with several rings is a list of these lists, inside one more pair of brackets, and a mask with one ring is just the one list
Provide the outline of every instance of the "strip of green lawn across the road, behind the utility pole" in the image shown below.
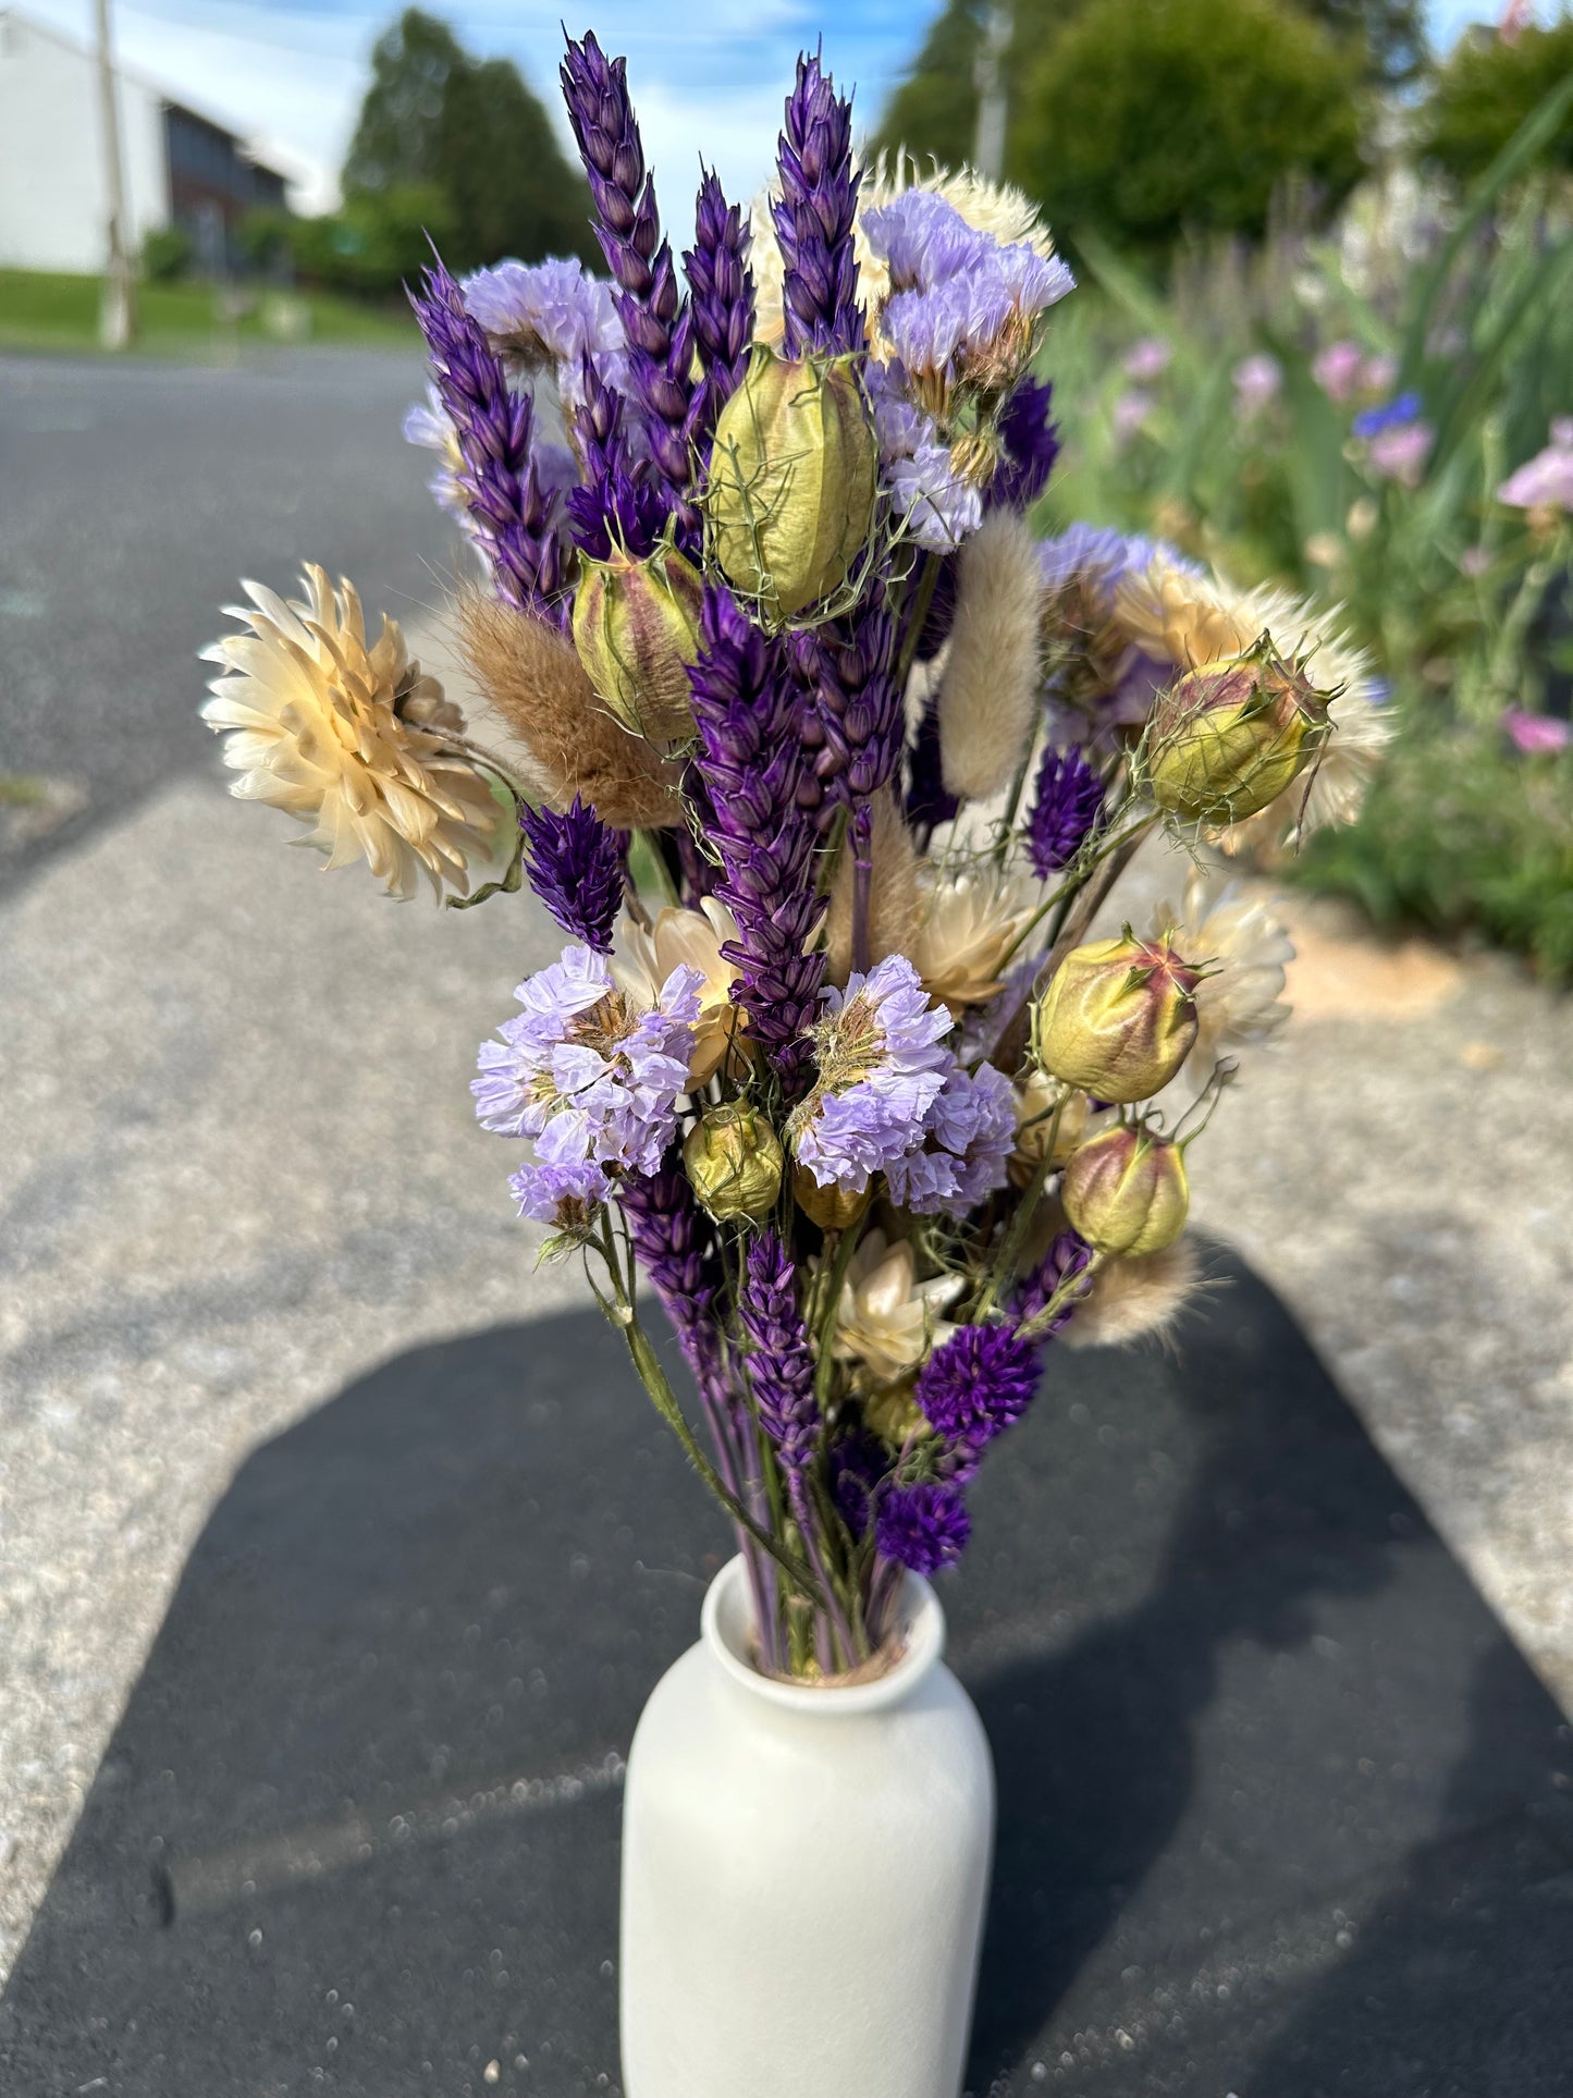
[[[151,355],[233,352],[241,342],[359,342],[415,348],[409,313],[363,306],[333,292],[247,287],[239,298],[210,283],[143,283],[138,350]],[[227,311],[229,300],[229,311]],[[243,311],[231,317],[233,306]],[[99,279],[0,269],[0,350],[96,350]]]

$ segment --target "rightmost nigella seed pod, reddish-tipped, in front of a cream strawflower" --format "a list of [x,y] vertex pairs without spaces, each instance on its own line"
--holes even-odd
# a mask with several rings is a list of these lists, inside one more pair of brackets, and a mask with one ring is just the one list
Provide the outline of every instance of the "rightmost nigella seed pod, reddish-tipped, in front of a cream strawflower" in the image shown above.
[[1187,822],[1244,822],[1311,764],[1328,699],[1267,636],[1244,657],[1185,671],[1147,724],[1147,791]]

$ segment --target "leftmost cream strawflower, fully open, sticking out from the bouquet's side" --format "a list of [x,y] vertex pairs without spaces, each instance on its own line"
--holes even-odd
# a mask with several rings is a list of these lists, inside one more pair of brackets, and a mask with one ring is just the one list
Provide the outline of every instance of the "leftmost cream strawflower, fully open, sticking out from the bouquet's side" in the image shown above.
[[392,619],[367,646],[352,583],[336,596],[310,564],[302,581],[304,604],[245,583],[254,608],[229,617],[252,631],[201,650],[222,665],[201,713],[229,730],[224,764],[241,774],[231,793],[313,825],[300,843],[329,869],[365,858],[392,896],[411,896],[422,875],[436,896],[464,896],[499,822],[484,778],[445,741],[464,715],[405,655]]

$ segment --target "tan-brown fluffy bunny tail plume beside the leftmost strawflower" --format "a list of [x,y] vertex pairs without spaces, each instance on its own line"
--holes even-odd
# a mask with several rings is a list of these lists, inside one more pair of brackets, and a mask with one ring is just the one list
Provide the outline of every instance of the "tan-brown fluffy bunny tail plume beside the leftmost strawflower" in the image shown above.
[[583,795],[615,831],[682,818],[682,766],[612,720],[560,627],[484,590],[461,592],[453,621],[470,676],[531,753],[547,799],[566,808]]

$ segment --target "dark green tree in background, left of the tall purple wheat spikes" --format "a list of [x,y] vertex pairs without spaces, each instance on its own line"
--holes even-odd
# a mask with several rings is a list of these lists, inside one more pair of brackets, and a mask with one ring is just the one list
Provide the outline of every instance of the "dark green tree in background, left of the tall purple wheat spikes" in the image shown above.
[[407,8],[378,38],[371,86],[344,162],[354,197],[413,187],[447,199],[445,256],[478,269],[505,254],[598,260],[589,191],[512,59],[472,59],[447,23]]

